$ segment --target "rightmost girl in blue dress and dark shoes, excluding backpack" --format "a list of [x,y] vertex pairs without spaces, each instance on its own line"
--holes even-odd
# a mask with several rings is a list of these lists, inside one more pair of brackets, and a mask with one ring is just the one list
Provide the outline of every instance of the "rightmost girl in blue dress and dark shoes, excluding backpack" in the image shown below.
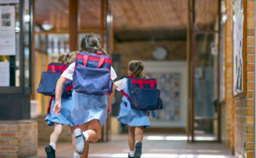
[[[144,65],[139,60],[132,60],[128,65],[128,75],[135,78],[145,78],[143,73]],[[114,83],[114,88],[129,94],[127,78],[122,78]],[[150,119],[147,111],[140,111],[132,108],[130,101],[126,96],[122,97],[121,108],[119,111],[118,121],[128,126],[128,157],[138,158],[142,154],[142,139],[145,127],[150,126]]]

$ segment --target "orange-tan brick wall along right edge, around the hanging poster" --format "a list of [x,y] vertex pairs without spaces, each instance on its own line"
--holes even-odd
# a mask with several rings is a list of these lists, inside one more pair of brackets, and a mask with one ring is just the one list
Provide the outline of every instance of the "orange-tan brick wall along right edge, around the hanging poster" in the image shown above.
[[254,142],[254,68],[255,68],[255,1],[246,0],[247,24],[246,37],[246,92],[238,97],[233,96],[233,1],[225,0],[225,103],[221,105],[222,140],[236,157],[253,157]]

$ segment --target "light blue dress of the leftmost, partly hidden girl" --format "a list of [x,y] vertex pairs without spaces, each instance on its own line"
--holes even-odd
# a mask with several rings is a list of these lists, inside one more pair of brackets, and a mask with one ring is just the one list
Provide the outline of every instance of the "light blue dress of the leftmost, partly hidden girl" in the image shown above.
[[50,112],[45,118],[48,121],[48,126],[54,126],[54,123],[58,124],[68,124],[70,126],[75,126],[73,120],[71,119],[71,109],[72,109],[72,97],[61,98],[61,110],[60,115],[56,116],[53,112],[53,106],[55,104],[55,99],[52,100],[50,105]]

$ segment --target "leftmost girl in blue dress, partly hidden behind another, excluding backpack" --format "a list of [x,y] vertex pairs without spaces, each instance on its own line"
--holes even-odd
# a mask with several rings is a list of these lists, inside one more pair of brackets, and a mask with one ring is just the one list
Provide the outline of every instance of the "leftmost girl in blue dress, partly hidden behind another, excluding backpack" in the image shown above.
[[[69,54],[63,53],[60,55],[58,62],[62,63],[72,63],[76,60],[76,52],[70,52]],[[56,116],[53,109],[53,106],[55,105],[55,98],[53,98],[50,102],[50,109],[49,113],[45,118],[45,121],[47,121],[48,126],[54,126],[54,131],[52,134],[50,134],[50,144],[45,147],[45,152],[47,154],[47,158],[55,158],[55,150],[56,150],[56,143],[58,141],[58,137],[60,136],[63,125],[69,125],[70,131],[72,135],[72,131],[74,130],[75,124],[73,123],[73,120],[71,119],[70,113],[72,108],[72,96],[68,98],[62,98],[62,108],[60,115]],[[74,143],[74,137],[72,136],[72,141]],[[73,157],[80,157],[80,155],[77,152],[73,153]]]

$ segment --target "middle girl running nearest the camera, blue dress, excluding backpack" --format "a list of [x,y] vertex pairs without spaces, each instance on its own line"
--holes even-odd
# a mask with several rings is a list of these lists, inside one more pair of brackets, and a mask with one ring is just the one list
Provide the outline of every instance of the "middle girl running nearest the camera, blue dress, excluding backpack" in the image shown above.
[[[97,53],[104,52],[101,49],[101,38],[95,34],[88,34],[81,39],[80,51]],[[61,90],[63,84],[67,80],[73,80],[73,73],[76,62],[73,62],[63,72],[56,85],[56,99],[54,111],[58,115],[62,108]],[[114,80],[117,76],[114,69],[111,67],[110,73],[111,80]],[[94,95],[79,93],[73,90],[72,100],[73,107],[71,110],[71,118],[76,125],[84,126],[88,124],[88,130],[82,131],[81,129],[75,129],[74,136],[76,137],[76,151],[78,154],[82,154],[85,150],[86,142],[96,142],[101,138],[101,127],[106,121],[107,113],[111,112],[111,99],[114,93],[107,97],[106,95]]]

